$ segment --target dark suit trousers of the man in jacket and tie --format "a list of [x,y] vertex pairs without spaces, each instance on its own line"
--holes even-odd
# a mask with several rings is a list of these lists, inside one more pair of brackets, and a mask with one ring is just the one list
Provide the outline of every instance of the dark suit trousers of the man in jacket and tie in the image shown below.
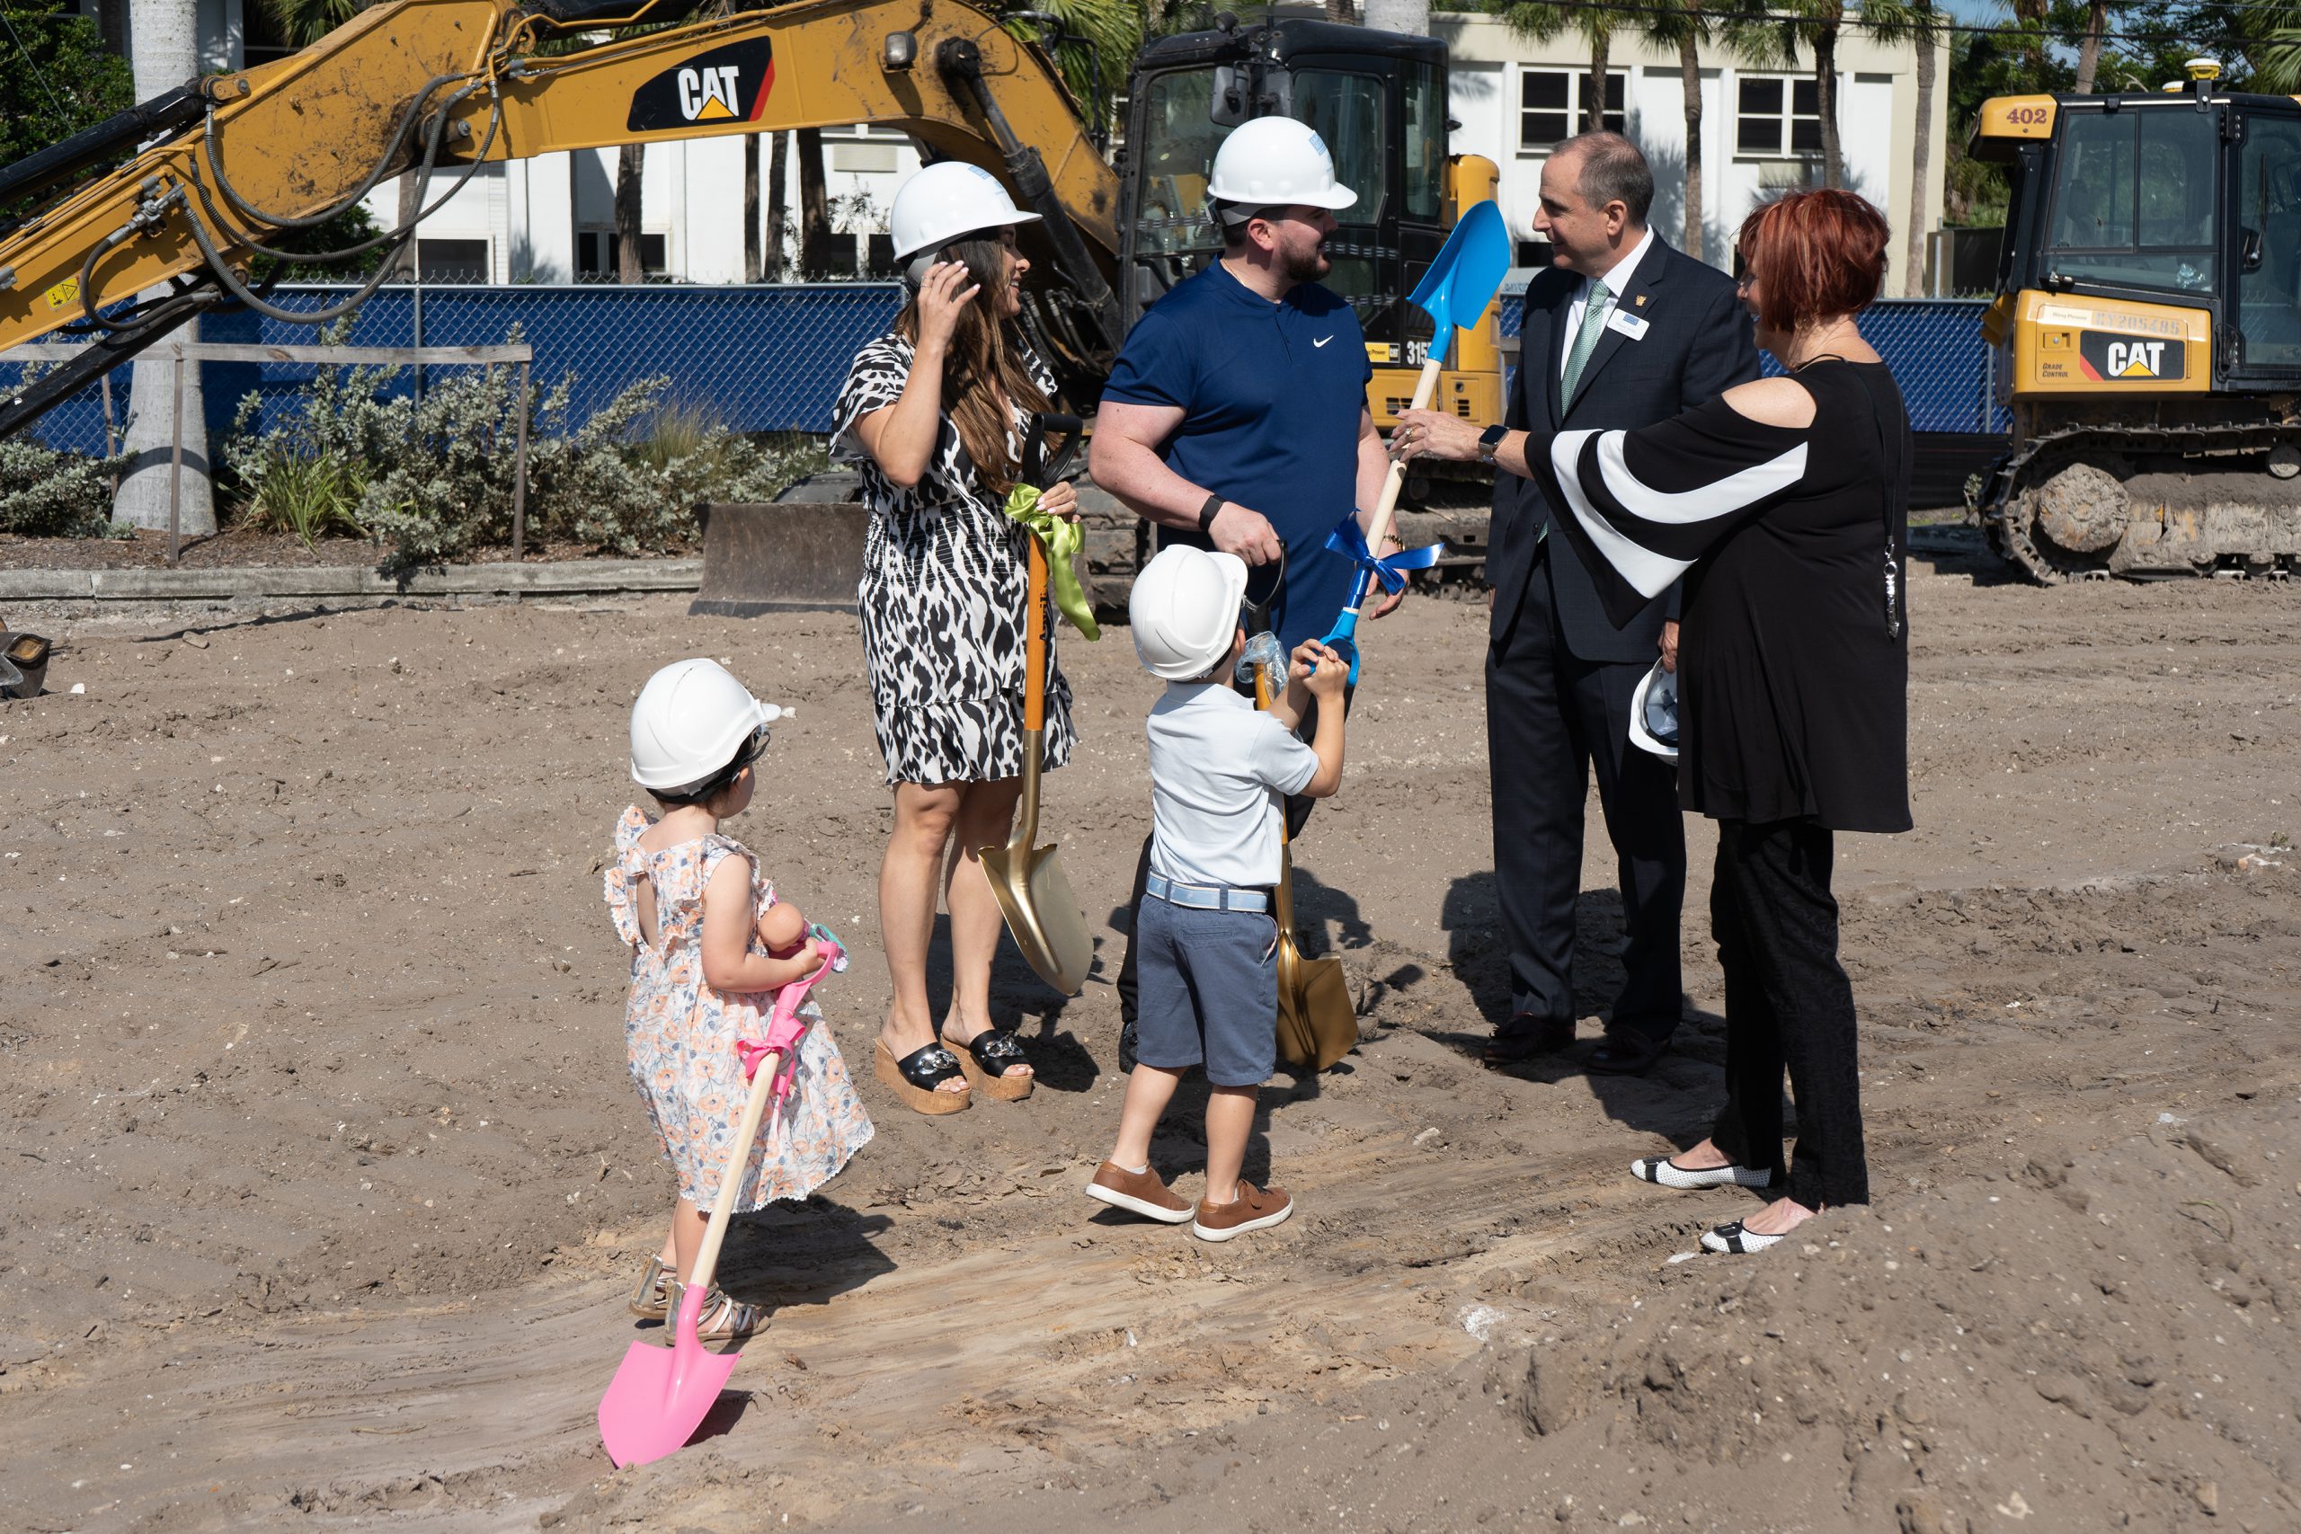
[[1666,1040],[1684,1005],[1677,918],[1687,833],[1677,775],[1629,743],[1629,697],[1652,660],[1583,660],[1567,646],[1535,570],[1509,635],[1486,651],[1486,764],[1493,773],[1493,888],[1509,941],[1509,1010],[1574,1021],[1574,904],[1590,773],[1620,860],[1622,994],[1608,1033]]

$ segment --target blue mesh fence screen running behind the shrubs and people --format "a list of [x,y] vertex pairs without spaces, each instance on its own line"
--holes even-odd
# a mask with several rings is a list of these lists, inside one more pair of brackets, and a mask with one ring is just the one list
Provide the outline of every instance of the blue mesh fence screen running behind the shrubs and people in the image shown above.
[[[338,301],[331,287],[283,287],[290,308]],[[423,287],[423,345],[499,345],[513,327],[536,350],[536,389],[573,377],[573,416],[587,419],[628,384],[670,377],[670,398],[709,407],[746,432],[831,430],[831,400],[849,359],[902,308],[895,283],[762,287]],[[414,345],[414,292],[384,287],[361,308],[347,340]],[[1981,304],[1889,301],[1862,315],[1862,333],[1894,368],[1921,432],[2004,430],[1990,402],[1990,352]],[[1519,294],[1503,294],[1503,333],[1519,331]],[[318,331],[253,313],[212,315],[202,340],[311,345]],[[225,432],[255,393],[255,428],[313,375],[308,363],[207,363],[205,414]],[[407,389],[403,377],[398,389]],[[113,373],[115,421],[127,416],[129,370]],[[104,451],[104,402],[90,386],[53,409],[32,435],[81,453]]]

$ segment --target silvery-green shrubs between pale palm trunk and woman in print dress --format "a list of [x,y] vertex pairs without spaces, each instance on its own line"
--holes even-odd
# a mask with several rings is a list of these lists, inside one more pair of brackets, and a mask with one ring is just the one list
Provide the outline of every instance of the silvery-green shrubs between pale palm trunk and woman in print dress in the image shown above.
[[[511,543],[518,368],[435,370],[421,400],[384,393],[396,377],[398,368],[322,370],[262,435],[249,430],[258,407],[249,396],[223,462],[251,515],[327,508],[324,522],[306,520],[311,536],[364,529],[393,566]],[[700,407],[665,402],[663,377],[630,384],[582,423],[571,421],[571,389],[564,377],[529,402],[527,536],[536,543],[614,554],[683,547],[697,504],[769,501],[821,467],[819,448],[766,448]]]

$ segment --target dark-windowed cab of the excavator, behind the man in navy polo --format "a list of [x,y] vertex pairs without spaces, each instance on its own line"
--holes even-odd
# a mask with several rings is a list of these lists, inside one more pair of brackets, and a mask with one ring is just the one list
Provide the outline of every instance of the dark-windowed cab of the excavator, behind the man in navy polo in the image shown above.
[[[1121,170],[1118,304],[1132,324],[1222,255],[1206,182],[1224,136],[1249,117],[1307,122],[1358,193],[1328,244],[1325,285],[1348,294],[1376,375],[1367,407],[1392,425],[1431,347],[1429,315],[1406,301],[1445,246],[1461,205],[1493,195],[1493,166],[1447,154],[1445,44],[1325,21],[1226,25],[1144,48],[1130,92]],[[1440,402],[1503,416],[1498,331],[1463,340]]]

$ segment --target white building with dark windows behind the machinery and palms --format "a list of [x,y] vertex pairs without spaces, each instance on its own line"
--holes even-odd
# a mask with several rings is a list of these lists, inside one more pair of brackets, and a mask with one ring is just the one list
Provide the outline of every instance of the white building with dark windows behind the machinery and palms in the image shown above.
[[[120,0],[83,0],[108,34],[124,41]],[[1314,16],[1309,7],[1284,7]],[[1684,85],[1675,48],[1643,41],[1625,14],[1606,78],[1606,126],[1636,140],[1654,166],[1652,223],[1673,244],[1684,232]],[[1436,32],[1452,55],[1452,136],[1457,154],[1484,154],[1503,168],[1500,202],[1521,260],[1532,262],[1532,214],[1542,163],[1551,145],[1581,126],[1588,44],[1567,30],[1551,41],[1516,37],[1493,16],[1434,11]],[[246,0],[202,0],[207,64],[237,69],[276,57],[262,16]],[[1917,202],[1926,230],[1940,223],[1949,39],[1935,44],[1935,99],[1928,126],[1926,186]],[[1753,64],[1726,48],[1705,48],[1703,92],[1703,255],[1730,267],[1733,230],[1751,207],[1790,186],[1820,182],[1820,120],[1811,57],[1795,67]],[[1838,37],[1838,138],[1845,184],[1894,223],[1896,278],[1912,216],[1917,163],[1917,48],[1878,44],[1859,28]],[[762,138],[762,175],[769,140]],[[421,271],[430,281],[571,283],[612,281],[614,149],[543,154],[532,161],[481,166],[472,184],[433,214],[419,235]],[[886,209],[895,189],[918,168],[911,140],[890,129],[826,129],[826,189],[833,207],[835,264],[844,271],[886,269]],[[446,182],[435,182],[435,193]],[[762,223],[766,214],[762,191]],[[743,138],[649,145],[642,182],[644,264],[649,274],[686,283],[743,281]],[[787,168],[787,253],[796,251],[798,166]],[[380,228],[398,216],[396,184],[377,189],[368,209]],[[1919,274],[1924,276],[1924,274]]]

